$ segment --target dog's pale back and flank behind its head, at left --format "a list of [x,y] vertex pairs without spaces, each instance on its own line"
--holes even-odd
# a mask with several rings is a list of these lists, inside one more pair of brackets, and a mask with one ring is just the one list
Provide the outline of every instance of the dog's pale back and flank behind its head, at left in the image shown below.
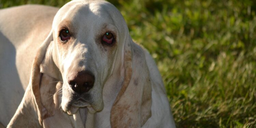
[[35,53],[57,11],[42,5],[0,10],[0,123],[5,127],[22,100]]

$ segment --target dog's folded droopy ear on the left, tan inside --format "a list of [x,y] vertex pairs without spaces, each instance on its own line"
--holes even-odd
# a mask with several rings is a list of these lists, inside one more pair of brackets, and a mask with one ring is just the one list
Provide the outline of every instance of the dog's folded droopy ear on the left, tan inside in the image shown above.
[[[58,81],[53,77],[40,72],[42,70],[40,69],[40,65],[45,63],[46,51],[51,41],[53,41],[52,31],[48,34],[37,52],[33,61],[30,76],[31,88],[37,105],[38,120],[42,126],[43,119],[54,115],[55,104],[53,94],[56,91],[56,81]],[[48,58],[47,61],[49,61]]]

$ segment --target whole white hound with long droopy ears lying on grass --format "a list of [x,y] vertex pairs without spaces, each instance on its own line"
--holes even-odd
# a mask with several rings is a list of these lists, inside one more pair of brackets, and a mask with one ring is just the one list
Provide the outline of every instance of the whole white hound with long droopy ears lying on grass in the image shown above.
[[25,5],[0,19],[4,126],[175,127],[153,58],[109,2]]

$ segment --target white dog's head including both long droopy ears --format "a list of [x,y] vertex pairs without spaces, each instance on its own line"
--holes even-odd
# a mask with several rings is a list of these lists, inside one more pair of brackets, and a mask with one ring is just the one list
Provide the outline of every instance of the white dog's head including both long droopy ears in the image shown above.
[[[75,114],[79,108],[87,107],[90,113],[95,113],[103,109],[102,90],[106,81],[113,73],[120,73],[116,76],[123,73],[125,76],[117,78],[123,79],[123,86],[112,117],[115,120],[117,112],[122,111],[127,119],[139,120],[132,117],[139,114],[139,122],[144,124],[151,115],[151,86],[144,88],[150,85],[145,57],[142,49],[132,51],[132,43],[125,20],[109,2],[74,0],[64,5],[55,15],[52,31],[33,63],[30,82],[39,121],[54,114],[56,101],[49,95],[56,92],[54,81],[63,82],[63,111]],[[132,65],[133,53],[138,65]],[[132,72],[137,75],[132,76]],[[129,99],[130,93],[125,90],[136,92],[133,96],[139,100]],[[121,109],[124,105],[130,111],[124,112]],[[147,109],[141,110],[142,106]],[[146,114],[142,116],[143,113]]]

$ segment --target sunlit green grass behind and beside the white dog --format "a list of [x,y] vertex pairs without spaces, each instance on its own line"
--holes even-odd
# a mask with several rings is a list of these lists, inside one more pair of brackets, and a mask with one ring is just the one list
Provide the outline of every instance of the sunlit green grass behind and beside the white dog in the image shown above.
[[[3,0],[0,8],[67,0]],[[177,127],[256,127],[256,1],[110,0],[157,62]]]

